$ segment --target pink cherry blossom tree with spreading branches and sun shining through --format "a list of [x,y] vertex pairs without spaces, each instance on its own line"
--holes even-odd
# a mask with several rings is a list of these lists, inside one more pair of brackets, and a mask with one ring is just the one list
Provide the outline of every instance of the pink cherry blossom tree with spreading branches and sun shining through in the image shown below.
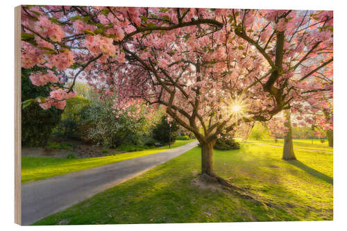
[[22,6],[22,65],[46,67],[31,80],[52,89],[42,108],[63,108],[78,78],[117,112],[163,105],[200,142],[203,176],[227,186],[217,137],[331,91],[316,75],[332,61],[331,11]]

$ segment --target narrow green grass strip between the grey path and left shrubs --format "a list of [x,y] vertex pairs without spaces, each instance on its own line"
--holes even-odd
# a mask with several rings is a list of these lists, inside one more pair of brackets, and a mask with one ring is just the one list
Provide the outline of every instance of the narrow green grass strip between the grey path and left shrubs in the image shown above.
[[[171,148],[177,148],[192,142],[192,140],[176,140]],[[105,164],[111,164],[122,160],[129,160],[136,157],[151,155],[169,150],[169,146],[147,149],[144,151],[135,151],[130,153],[121,153],[106,157],[92,157],[81,159],[62,159],[51,157],[22,157],[22,183],[51,178],[74,171],[94,168]]]

